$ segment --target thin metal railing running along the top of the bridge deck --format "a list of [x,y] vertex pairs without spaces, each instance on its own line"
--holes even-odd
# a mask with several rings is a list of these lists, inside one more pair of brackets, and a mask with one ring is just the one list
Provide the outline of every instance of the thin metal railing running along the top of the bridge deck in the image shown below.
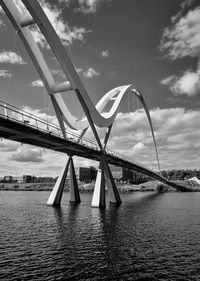
[[[0,101],[0,116],[3,118],[6,118],[6,119],[10,119],[15,122],[24,124],[25,126],[29,126],[29,127],[38,129],[47,134],[55,135],[55,136],[63,139],[62,131],[58,125],[51,123],[51,122],[47,122],[44,119],[42,119],[32,113],[29,113],[27,111],[24,111],[22,109],[19,109],[13,105],[10,105],[10,104],[2,102],[2,101]],[[55,122],[57,122],[57,119],[55,119]],[[68,140],[70,140],[74,143],[78,142],[79,135],[77,135],[71,131],[68,131],[68,130],[65,130],[65,133],[66,133],[66,138]],[[79,144],[87,146],[87,147],[95,149],[95,150],[99,150],[99,147],[97,146],[97,144],[87,138],[81,138],[81,140],[79,141]],[[106,149],[106,152],[107,152],[107,154],[118,157],[119,159],[133,162],[133,160],[131,160],[130,158],[119,154],[117,151],[110,150],[109,148]],[[137,163],[136,161],[134,161],[134,163],[141,166],[141,164]],[[145,168],[144,165],[142,165],[142,166]]]

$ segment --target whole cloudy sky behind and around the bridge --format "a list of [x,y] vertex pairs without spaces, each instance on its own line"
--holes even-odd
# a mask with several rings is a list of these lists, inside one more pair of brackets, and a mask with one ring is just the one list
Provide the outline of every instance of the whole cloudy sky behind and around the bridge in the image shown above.
[[[26,14],[21,1],[12,0]],[[149,107],[161,170],[200,168],[200,3],[196,0],[40,0],[92,101],[114,87],[133,84]],[[35,41],[56,81],[65,81],[40,31]],[[0,100],[56,120],[34,65],[0,11]],[[3,39],[2,39],[3,38]],[[83,117],[73,93],[72,113]],[[56,121],[55,121],[56,122]],[[101,138],[102,130],[99,131]],[[86,137],[93,138],[91,131]],[[108,147],[157,169],[142,106],[129,95],[113,126]],[[0,177],[57,176],[67,155],[0,141]],[[97,162],[75,158],[76,167]]]

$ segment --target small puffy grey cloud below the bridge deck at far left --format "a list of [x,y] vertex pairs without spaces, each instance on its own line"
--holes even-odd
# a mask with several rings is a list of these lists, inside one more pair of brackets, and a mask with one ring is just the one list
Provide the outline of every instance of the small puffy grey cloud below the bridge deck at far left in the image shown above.
[[10,160],[17,162],[43,162],[43,149],[30,145],[21,145],[11,155]]

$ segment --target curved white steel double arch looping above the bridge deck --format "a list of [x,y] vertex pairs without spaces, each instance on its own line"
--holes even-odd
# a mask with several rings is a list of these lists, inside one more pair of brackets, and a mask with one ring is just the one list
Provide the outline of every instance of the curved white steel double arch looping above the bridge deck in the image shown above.
[[[87,91],[85,90],[68,54],[65,48],[63,47],[56,31],[52,27],[51,23],[49,22],[47,16],[45,15],[42,7],[38,3],[37,0],[21,0],[21,2],[26,7],[27,11],[30,14],[29,18],[24,18],[24,15],[20,13],[19,9],[17,8],[16,1],[15,0],[0,0],[0,4],[2,8],[4,9],[5,13],[8,15],[11,23],[13,24],[15,30],[17,31],[19,37],[21,38],[22,42],[24,43],[24,46],[26,47],[39,75],[42,79],[47,92],[49,93],[56,115],[59,120],[60,127],[63,132],[63,136],[65,136],[65,130],[64,130],[64,123],[66,123],[70,128],[76,129],[76,130],[82,130],[82,135],[86,132],[87,128],[91,126],[92,131],[95,135],[95,138],[98,142],[98,145],[104,154],[102,156],[102,163],[101,167],[106,166],[105,174],[110,177],[110,171],[108,164],[106,163],[105,159],[105,148],[106,144],[109,138],[109,134],[112,128],[112,124],[115,120],[115,117],[118,113],[118,109],[120,106],[120,103],[124,96],[127,93],[132,93],[137,96],[137,98],[141,101],[145,112],[147,114],[147,118],[150,124],[150,129],[154,141],[154,146],[156,150],[156,156],[157,161],[159,165],[158,160],[158,153],[156,148],[156,142],[155,142],[155,136],[153,131],[153,126],[149,114],[149,110],[144,102],[144,99],[141,95],[141,93],[134,89],[134,86],[132,84],[125,85],[125,86],[119,86],[111,91],[109,91],[107,94],[105,94],[101,100],[97,103],[95,106],[90,99],[90,96],[88,95]],[[37,45],[35,42],[30,26],[32,24],[37,24],[38,28],[40,29],[41,33],[47,40],[47,43],[49,44],[49,47],[51,48],[52,52],[54,53],[61,69],[63,70],[63,73],[66,76],[66,82],[63,83],[56,83],[53,75]],[[65,104],[63,97],[61,95],[61,92],[66,91],[74,91],[74,93],[77,95],[78,100],[80,101],[83,110],[85,112],[85,115],[87,118],[83,118],[82,120],[79,120],[77,117],[75,117]],[[113,104],[106,114],[103,115],[101,112],[105,108],[108,102],[112,101]],[[108,132],[105,136],[104,144],[102,145],[98,136],[98,133],[96,131],[95,126],[98,127],[107,127]],[[103,155],[102,154],[102,155]],[[72,161],[72,160],[70,160]],[[97,181],[99,181],[99,185],[102,185],[102,179],[101,176],[97,177]],[[113,183],[112,183],[113,185]],[[101,192],[96,192],[100,194]],[[103,193],[102,193],[103,194]],[[116,196],[114,196],[116,197]],[[116,199],[118,200],[118,199]],[[59,200],[58,200],[59,201]],[[95,201],[95,200],[93,200]],[[118,200],[119,201],[119,200]],[[51,204],[51,202],[50,202]],[[95,202],[93,205],[98,205],[99,203]],[[104,203],[102,203],[104,204]],[[101,204],[100,204],[101,205]]]

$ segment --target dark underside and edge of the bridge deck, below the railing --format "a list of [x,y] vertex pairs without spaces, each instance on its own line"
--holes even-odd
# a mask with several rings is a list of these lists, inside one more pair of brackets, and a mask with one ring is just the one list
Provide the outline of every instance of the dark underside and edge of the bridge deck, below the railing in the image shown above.
[[[48,124],[46,123],[46,125]],[[73,136],[73,134],[71,136]],[[26,122],[26,120],[22,122],[21,120],[4,115],[0,115],[0,137],[96,161],[99,161],[101,157],[101,151],[98,149],[98,146],[86,139],[77,143],[76,139],[73,137],[64,139],[61,135],[56,134],[55,132],[38,129],[29,122]],[[168,182],[153,170],[123,158],[122,156],[120,157],[109,150],[107,151],[107,161],[112,165],[144,173],[154,179],[177,188],[174,183]],[[183,191],[186,190],[184,187],[178,187],[177,189]]]

